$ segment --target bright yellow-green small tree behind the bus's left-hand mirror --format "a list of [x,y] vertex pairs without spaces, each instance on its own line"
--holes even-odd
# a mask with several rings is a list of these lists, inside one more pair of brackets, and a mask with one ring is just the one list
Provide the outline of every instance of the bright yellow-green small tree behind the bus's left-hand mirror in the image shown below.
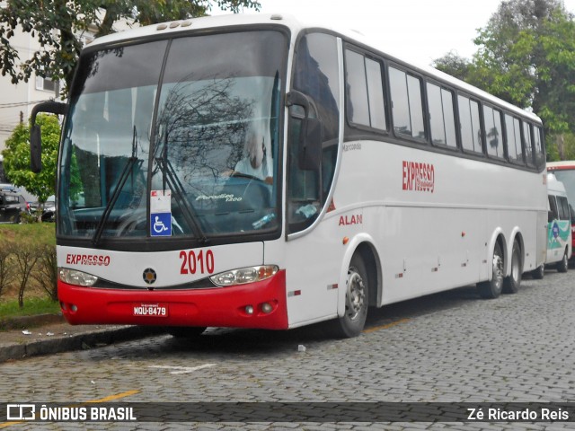
[[14,128],[2,154],[8,180],[16,186],[25,187],[40,202],[45,202],[55,194],[60,124],[57,117],[45,114],[40,114],[36,122],[42,130],[42,172],[33,173],[30,169],[30,128],[27,124]]

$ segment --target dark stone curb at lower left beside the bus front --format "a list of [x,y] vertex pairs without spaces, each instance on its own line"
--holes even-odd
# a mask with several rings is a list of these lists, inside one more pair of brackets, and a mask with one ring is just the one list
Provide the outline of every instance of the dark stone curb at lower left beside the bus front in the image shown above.
[[67,337],[31,341],[25,344],[0,346],[0,363],[31,356],[87,350],[94,347],[108,346],[120,341],[143,339],[158,334],[164,334],[164,330],[158,327],[123,326],[85,332]]

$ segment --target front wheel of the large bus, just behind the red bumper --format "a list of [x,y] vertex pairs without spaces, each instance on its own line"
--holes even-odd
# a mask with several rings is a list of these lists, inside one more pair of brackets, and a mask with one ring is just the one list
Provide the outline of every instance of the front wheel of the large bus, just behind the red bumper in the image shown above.
[[349,262],[346,281],[345,314],[330,321],[328,328],[339,339],[357,337],[364,328],[367,319],[368,278],[363,259],[355,254]]

